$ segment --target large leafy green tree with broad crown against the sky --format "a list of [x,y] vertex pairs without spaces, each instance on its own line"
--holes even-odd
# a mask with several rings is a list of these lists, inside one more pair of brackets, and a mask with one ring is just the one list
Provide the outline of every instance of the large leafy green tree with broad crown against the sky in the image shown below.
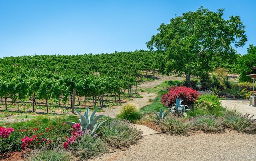
[[163,54],[160,71],[185,73],[189,82],[190,76],[200,77],[211,71],[217,58],[226,61],[234,57],[234,47],[241,47],[247,41],[245,26],[239,16],[224,20],[223,12],[224,9],[212,12],[201,7],[172,18],[170,24],[161,24],[159,33],[146,43],[149,49],[155,47]]

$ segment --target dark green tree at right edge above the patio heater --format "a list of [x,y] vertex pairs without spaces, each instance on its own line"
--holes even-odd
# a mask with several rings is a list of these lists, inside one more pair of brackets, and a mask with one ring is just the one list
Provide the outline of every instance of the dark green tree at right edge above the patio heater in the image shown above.
[[242,55],[237,63],[237,72],[239,73],[240,82],[252,82],[252,79],[247,75],[253,73],[251,67],[256,66],[256,46],[250,45],[247,48],[247,54]]

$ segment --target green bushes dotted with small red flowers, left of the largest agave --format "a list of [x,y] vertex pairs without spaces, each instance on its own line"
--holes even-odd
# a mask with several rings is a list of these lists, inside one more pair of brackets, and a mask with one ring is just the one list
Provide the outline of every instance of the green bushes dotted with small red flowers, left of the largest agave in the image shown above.
[[[21,139],[24,136],[30,138],[34,135],[36,136],[38,141],[34,141],[31,144],[34,148],[47,145],[51,149],[57,146],[58,143],[62,145],[62,142],[66,140],[65,136],[70,135],[70,126],[62,124],[62,121],[60,118],[50,119],[44,116],[37,116],[26,122],[8,123],[14,128],[14,132],[8,138],[0,140],[0,152],[22,150]],[[48,142],[40,142],[42,138],[47,139]]]

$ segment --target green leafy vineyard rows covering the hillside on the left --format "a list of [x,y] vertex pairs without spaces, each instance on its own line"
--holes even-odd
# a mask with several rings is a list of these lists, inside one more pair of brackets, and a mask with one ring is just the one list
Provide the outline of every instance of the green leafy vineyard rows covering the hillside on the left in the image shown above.
[[[154,51],[115,52],[112,54],[34,55],[0,59],[1,103],[29,102],[35,112],[37,100],[43,100],[48,113],[51,104],[72,104],[76,96],[91,99],[93,106],[104,106],[104,99],[120,101],[131,95],[131,87],[158,69]],[[125,91],[125,93],[124,93]],[[80,103],[80,100],[79,100]],[[10,104],[10,103],[9,103]],[[66,105],[67,106],[67,105]]]

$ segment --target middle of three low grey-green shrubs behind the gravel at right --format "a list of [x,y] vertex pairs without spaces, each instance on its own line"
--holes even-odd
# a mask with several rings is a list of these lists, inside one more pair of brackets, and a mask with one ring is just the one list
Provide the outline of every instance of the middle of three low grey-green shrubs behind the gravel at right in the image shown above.
[[224,131],[222,120],[214,115],[198,115],[193,119],[195,130],[206,133],[218,133]]

